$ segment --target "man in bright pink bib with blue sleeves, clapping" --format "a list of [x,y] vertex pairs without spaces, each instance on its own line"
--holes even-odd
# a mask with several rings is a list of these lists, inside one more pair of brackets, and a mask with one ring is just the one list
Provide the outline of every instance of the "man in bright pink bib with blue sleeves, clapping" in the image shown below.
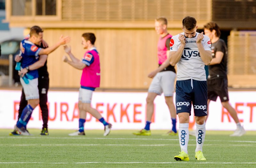
[[68,60],[67,56],[63,56],[63,61],[76,69],[83,70],[81,77],[81,87],[79,89],[79,130],[77,132],[68,134],[69,136],[85,135],[84,123],[86,120],[86,113],[90,113],[97,118],[105,127],[104,136],[107,136],[111,129],[111,124],[106,122],[100,115],[99,111],[91,107],[92,92],[95,88],[100,87],[100,58],[99,53],[94,46],[96,37],[93,33],[84,33],[82,35],[82,45],[87,51],[84,54],[82,60],[77,59],[71,53],[71,47],[64,46],[65,52],[69,55],[71,60]]

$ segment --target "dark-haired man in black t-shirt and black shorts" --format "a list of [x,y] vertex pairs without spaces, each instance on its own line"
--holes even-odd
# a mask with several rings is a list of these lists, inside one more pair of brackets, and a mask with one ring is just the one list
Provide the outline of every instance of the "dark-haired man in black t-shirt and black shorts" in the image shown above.
[[[204,33],[209,36],[212,42],[212,61],[207,79],[208,87],[208,108],[210,101],[216,101],[220,97],[221,104],[228,110],[228,113],[236,122],[236,130],[230,136],[242,136],[245,134],[244,127],[239,122],[236,110],[229,104],[228,99],[228,77],[227,77],[227,47],[224,40],[220,39],[220,28],[214,22],[204,25]],[[208,109],[209,115],[209,109]],[[205,121],[208,117],[205,116]]]

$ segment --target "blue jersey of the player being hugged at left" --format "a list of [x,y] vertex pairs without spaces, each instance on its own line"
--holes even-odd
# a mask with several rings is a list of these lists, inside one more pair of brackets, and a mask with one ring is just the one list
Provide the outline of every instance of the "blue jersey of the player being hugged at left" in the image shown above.
[[[20,51],[21,51],[21,67],[26,68],[29,65],[34,64],[36,61],[38,61],[39,58],[39,52],[42,48],[38,48],[34,43],[28,41],[27,39],[24,39],[20,42]],[[32,75],[35,78],[38,78],[38,71],[31,70],[28,72],[28,74]]]

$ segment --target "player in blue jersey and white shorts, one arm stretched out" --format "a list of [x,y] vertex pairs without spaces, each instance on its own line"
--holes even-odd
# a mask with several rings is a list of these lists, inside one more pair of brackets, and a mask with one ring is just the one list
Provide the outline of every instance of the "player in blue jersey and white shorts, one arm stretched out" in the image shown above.
[[[43,29],[39,26],[33,26],[30,29],[29,39],[24,39],[20,42],[21,52],[21,70],[20,83],[23,87],[28,105],[23,109],[22,114],[14,126],[20,135],[30,135],[26,129],[29,119],[31,118],[34,108],[39,104],[39,91],[38,91],[38,71],[35,63],[38,61],[39,55],[48,55],[53,52],[60,45],[66,44],[70,41],[70,37],[60,37],[60,40],[53,46],[46,49],[39,48],[36,45],[40,45],[43,39]],[[46,57],[47,58],[47,57]],[[28,82],[24,81],[22,77],[28,74],[30,77]],[[27,76],[28,77],[28,76]]]

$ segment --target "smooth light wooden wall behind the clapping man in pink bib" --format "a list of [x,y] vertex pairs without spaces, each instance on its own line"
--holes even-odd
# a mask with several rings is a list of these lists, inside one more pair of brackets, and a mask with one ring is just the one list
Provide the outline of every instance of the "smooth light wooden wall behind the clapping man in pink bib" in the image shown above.
[[[152,23],[152,27],[154,24]],[[81,35],[93,32],[95,46],[100,53],[101,88],[148,88],[148,74],[158,66],[157,41],[159,35],[152,29],[44,29],[44,39],[51,46],[61,34],[71,36],[72,53],[82,58],[85,50]],[[170,30],[175,35],[181,29]],[[62,62],[63,47],[49,55],[48,70],[50,87],[77,88],[80,86],[81,70]]]

